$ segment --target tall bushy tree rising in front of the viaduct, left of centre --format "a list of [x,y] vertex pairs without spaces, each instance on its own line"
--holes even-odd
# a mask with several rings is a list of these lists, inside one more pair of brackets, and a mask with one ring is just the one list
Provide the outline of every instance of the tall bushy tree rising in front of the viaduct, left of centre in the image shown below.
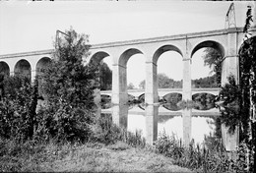
[[54,59],[41,76],[41,91],[46,107],[39,112],[45,120],[40,129],[60,141],[88,140],[94,122],[94,89],[97,67],[84,65],[89,55],[88,35],[74,29],[55,42]]

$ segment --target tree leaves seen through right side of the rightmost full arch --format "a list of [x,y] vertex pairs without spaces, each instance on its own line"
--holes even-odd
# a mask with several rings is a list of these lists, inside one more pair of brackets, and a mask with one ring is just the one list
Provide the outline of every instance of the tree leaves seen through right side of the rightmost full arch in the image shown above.
[[214,48],[208,47],[204,50],[205,55],[203,55],[205,66],[209,66],[213,68],[215,73],[215,85],[221,87],[222,82],[222,63],[224,58],[222,57],[221,53]]

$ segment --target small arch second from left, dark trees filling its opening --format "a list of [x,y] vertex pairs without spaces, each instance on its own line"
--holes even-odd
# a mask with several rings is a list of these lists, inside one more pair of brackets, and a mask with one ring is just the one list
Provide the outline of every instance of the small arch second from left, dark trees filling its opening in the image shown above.
[[32,66],[29,61],[21,59],[14,67],[14,75],[21,75],[31,79],[32,77]]

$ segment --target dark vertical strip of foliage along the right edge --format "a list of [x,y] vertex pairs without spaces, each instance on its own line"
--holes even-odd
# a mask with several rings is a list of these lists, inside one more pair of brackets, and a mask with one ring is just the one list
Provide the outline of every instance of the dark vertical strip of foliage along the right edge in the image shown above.
[[[249,147],[253,160],[256,159],[256,37],[243,42],[239,50],[240,88],[241,88],[241,140]],[[253,168],[256,169],[256,166]]]

